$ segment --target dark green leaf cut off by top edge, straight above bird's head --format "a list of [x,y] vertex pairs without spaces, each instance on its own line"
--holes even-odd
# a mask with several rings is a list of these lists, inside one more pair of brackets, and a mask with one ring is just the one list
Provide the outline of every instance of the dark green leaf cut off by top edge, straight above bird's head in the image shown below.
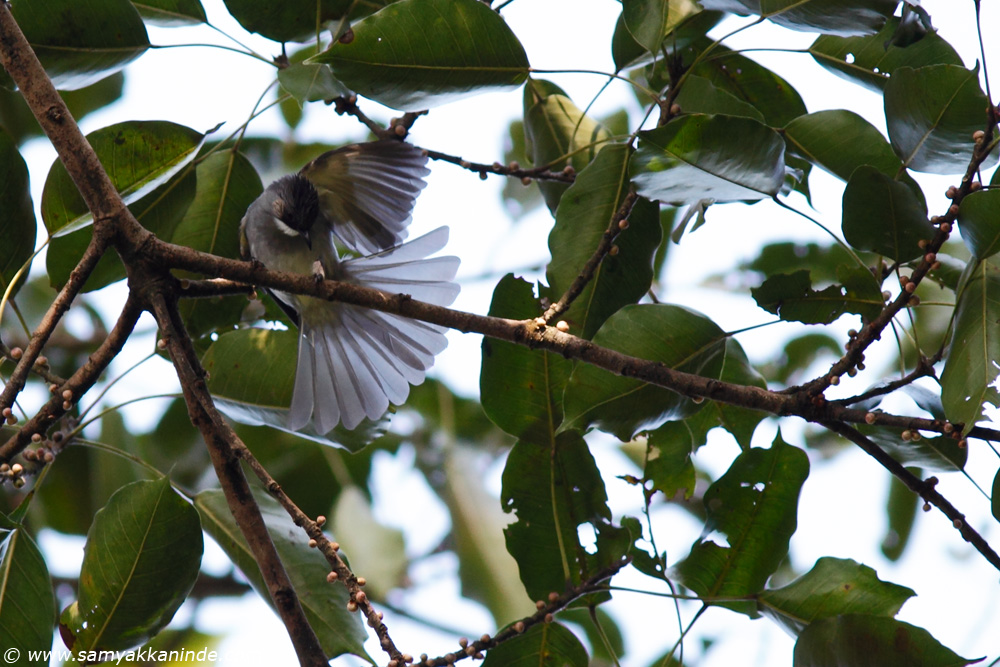
[[315,39],[328,21],[357,19],[392,0],[225,0],[226,9],[249,32],[276,42]]

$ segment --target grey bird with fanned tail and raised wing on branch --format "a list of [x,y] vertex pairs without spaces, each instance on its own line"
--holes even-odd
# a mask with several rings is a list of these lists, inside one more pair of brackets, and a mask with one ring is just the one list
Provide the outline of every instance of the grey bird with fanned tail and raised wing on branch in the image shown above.
[[[271,183],[240,223],[244,259],[268,269],[339,280],[448,306],[459,259],[430,257],[439,227],[404,241],[429,170],[411,144],[381,140],[320,155]],[[341,255],[334,236],[350,253]],[[288,427],[353,430],[401,405],[447,346],[443,327],[361,306],[270,292],[299,328]]]

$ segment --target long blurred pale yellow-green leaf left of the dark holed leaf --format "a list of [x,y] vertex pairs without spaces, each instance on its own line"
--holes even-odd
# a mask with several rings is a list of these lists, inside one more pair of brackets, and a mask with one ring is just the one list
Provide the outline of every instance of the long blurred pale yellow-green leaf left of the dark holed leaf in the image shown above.
[[449,447],[445,456],[440,491],[451,516],[462,596],[481,602],[497,627],[533,614],[535,605],[505,545],[503,531],[509,519],[473,472],[481,467],[479,457],[461,445]]

